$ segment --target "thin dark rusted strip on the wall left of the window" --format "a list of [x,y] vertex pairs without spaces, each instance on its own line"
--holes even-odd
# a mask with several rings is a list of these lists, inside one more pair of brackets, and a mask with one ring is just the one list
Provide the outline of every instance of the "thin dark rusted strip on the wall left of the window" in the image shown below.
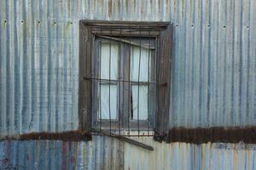
[[90,133],[82,131],[67,131],[61,133],[24,133],[20,135],[12,135],[1,137],[1,140],[62,140],[62,141],[88,141],[91,139]]

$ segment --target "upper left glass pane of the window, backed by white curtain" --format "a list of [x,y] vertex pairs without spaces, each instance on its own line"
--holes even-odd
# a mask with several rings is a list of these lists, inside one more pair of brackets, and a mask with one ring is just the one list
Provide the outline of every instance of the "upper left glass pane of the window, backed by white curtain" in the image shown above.
[[[111,48],[111,52],[110,52]],[[116,80],[118,77],[119,45],[116,43],[102,43],[101,45],[101,79]],[[109,59],[110,63],[109,63]],[[109,71],[109,68],[111,70]],[[111,77],[109,77],[109,72]]]

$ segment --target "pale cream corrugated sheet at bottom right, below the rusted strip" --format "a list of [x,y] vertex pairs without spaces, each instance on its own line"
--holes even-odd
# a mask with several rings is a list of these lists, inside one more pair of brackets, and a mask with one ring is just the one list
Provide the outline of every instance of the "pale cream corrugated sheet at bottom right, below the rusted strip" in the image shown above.
[[[134,138],[137,139],[137,138]],[[125,144],[125,169],[254,169],[254,144],[163,144],[147,138],[154,151]]]

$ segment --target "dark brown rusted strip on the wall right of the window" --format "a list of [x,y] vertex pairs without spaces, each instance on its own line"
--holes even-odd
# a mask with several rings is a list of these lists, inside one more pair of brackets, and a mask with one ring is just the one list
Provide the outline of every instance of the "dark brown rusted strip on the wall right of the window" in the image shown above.
[[157,141],[203,143],[239,143],[256,144],[256,127],[175,127],[161,136],[154,136]]

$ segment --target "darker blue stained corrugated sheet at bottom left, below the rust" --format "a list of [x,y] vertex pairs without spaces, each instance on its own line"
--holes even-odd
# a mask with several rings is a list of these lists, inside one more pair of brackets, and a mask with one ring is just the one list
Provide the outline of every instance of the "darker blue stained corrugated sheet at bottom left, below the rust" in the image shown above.
[[0,142],[0,169],[122,169],[124,144],[95,137],[90,142]]

